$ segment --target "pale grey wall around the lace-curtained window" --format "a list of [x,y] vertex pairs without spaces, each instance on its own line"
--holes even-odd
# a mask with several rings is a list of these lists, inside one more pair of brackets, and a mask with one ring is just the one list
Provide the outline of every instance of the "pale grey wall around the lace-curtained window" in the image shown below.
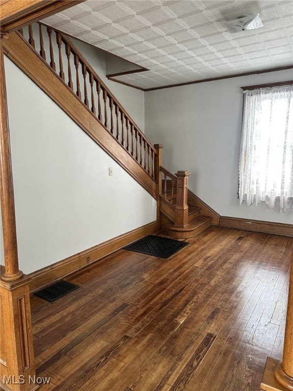
[[222,216],[293,224],[286,213],[239,205],[242,86],[292,80],[292,70],[255,74],[145,93],[145,134],[163,144],[163,165],[188,170],[189,188]]

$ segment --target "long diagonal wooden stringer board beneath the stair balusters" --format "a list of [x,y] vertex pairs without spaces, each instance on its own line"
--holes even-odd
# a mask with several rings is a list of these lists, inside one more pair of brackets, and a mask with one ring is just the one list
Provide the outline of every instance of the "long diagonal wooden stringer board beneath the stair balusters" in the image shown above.
[[142,187],[157,199],[157,183],[109,133],[41,56],[18,33],[2,40],[5,55],[65,113],[118,162]]

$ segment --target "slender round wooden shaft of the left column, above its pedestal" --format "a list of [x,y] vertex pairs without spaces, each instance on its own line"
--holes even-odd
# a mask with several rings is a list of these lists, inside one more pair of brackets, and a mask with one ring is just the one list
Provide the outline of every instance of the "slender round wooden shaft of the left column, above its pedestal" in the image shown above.
[[14,281],[22,276],[22,272],[18,268],[14,191],[2,39],[0,49],[0,78],[0,200],[5,259],[5,273],[2,275],[2,280]]

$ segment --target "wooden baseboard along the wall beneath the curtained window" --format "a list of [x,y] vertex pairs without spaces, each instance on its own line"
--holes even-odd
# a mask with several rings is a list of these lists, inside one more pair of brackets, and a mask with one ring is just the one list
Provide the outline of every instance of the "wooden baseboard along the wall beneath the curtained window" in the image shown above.
[[293,236],[293,224],[283,224],[281,222],[221,216],[220,226],[246,231],[264,232],[266,234]]

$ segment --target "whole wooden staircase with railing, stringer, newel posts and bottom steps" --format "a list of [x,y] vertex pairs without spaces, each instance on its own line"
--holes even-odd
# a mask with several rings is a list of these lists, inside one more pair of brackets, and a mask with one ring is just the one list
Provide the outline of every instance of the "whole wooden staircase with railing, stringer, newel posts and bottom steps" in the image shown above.
[[202,214],[188,190],[189,173],[162,167],[162,146],[151,144],[66,35],[35,23],[11,33],[4,52],[149,191],[159,227],[169,236],[185,239],[211,227],[212,217]]

